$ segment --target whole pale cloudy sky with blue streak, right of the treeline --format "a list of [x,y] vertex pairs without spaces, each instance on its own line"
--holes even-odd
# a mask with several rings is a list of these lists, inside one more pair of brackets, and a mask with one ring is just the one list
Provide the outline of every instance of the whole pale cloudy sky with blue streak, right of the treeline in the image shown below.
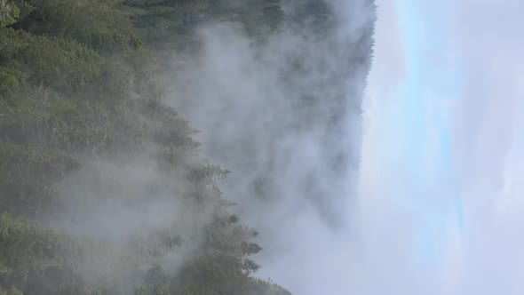
[[524,2],[377,5],[355,291],[524,294]]

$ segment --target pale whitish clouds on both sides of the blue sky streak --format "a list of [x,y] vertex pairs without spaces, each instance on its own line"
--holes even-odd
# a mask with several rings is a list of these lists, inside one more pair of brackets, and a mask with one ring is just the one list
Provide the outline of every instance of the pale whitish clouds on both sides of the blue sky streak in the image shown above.
[[[391,143],[395,137],[405,138],[384,121],[398,108],[394,98],[405,71],[403,57],[409,52],[402,50],[406,44],[399,44],[401,36],[395,26],[399,8],[395,3],[401,1],[377,1],[376,58],[365,102],[361,199],[355,209],[362,247],[353,249],[354,291],[523,294],[524,2],[467,0],[448,2],[447,6],[445,1],[424,2],[430,13],[423,20],[446,30],[445,42],[433,44],[436,50],[425,52],[437,67],[425,68],[425,75],[446,67],[458,69],[425,98],[433,116],[445,114],[445,121],[449,121],[453,181],[444,184],[457,185],[454,191],[464,203],[465,220],[464,232],[457,220],[445,225],[446,235],[436,241],[441,243],[443,254],[433,263],[421,263],[412,251],[413,228],[417,227],[413,223],[421,220],[417,215],[421,212],[413,212],[413,207],[403,206],[399,200],[405,197],[401,192],[409,191],[406,186],[430,191],[434,187],[406,181],[411,175],[409,168],[393,165]],[[449,13],[442,13],[446,10]],[[453,81],[457,83],[449,84]],[[450,92],[444,89],[446,85]],[[446,98],[449,95],[451,99]],[[412,110],[407,108],[405,115]],[[420,124],[438,142],[438,132],[434,132],[438,127],[431,121]],[[425,150],[426,155],[432,153]],[[417,167],[431,170],[435,162],[428,159]],[[433,179],[440,177],[433,175]],[[420,197],[422,203],[432,201],[431,195]],[[460,217],[449,213],[446,218]]]

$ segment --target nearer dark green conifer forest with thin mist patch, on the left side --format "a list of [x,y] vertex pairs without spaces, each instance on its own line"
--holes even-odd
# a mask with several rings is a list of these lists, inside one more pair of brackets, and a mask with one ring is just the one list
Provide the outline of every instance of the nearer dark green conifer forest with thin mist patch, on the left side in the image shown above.
[[[294,17],[322,20],[309,3]],[[290,294],[257,278],[264,245],[218,188],[229,171],[165,87],[197,28],[264,44],[283,6],[0,0],[0,294]]]

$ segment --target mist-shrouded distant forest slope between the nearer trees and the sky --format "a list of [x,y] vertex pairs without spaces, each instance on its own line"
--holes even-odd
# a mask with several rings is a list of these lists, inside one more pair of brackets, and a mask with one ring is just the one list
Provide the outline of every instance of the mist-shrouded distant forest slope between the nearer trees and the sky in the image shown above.
[[221,187],[260,231],[258,276],[295,294],[347,294],[375,6],[283,7],[282,28],[261,42],[233,23],[200,28],[202,52],[172,81],[197,99],[172,104],[202,130],[203,155],[233,171]]

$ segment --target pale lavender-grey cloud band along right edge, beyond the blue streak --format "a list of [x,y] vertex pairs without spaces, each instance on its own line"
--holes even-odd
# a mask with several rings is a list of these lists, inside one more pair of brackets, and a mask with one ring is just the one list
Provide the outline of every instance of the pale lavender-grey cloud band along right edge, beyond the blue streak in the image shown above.
[[461,1],[454,7],[465,70],[454,141],[468,225],[457,291],[522,294],[524,3]]

